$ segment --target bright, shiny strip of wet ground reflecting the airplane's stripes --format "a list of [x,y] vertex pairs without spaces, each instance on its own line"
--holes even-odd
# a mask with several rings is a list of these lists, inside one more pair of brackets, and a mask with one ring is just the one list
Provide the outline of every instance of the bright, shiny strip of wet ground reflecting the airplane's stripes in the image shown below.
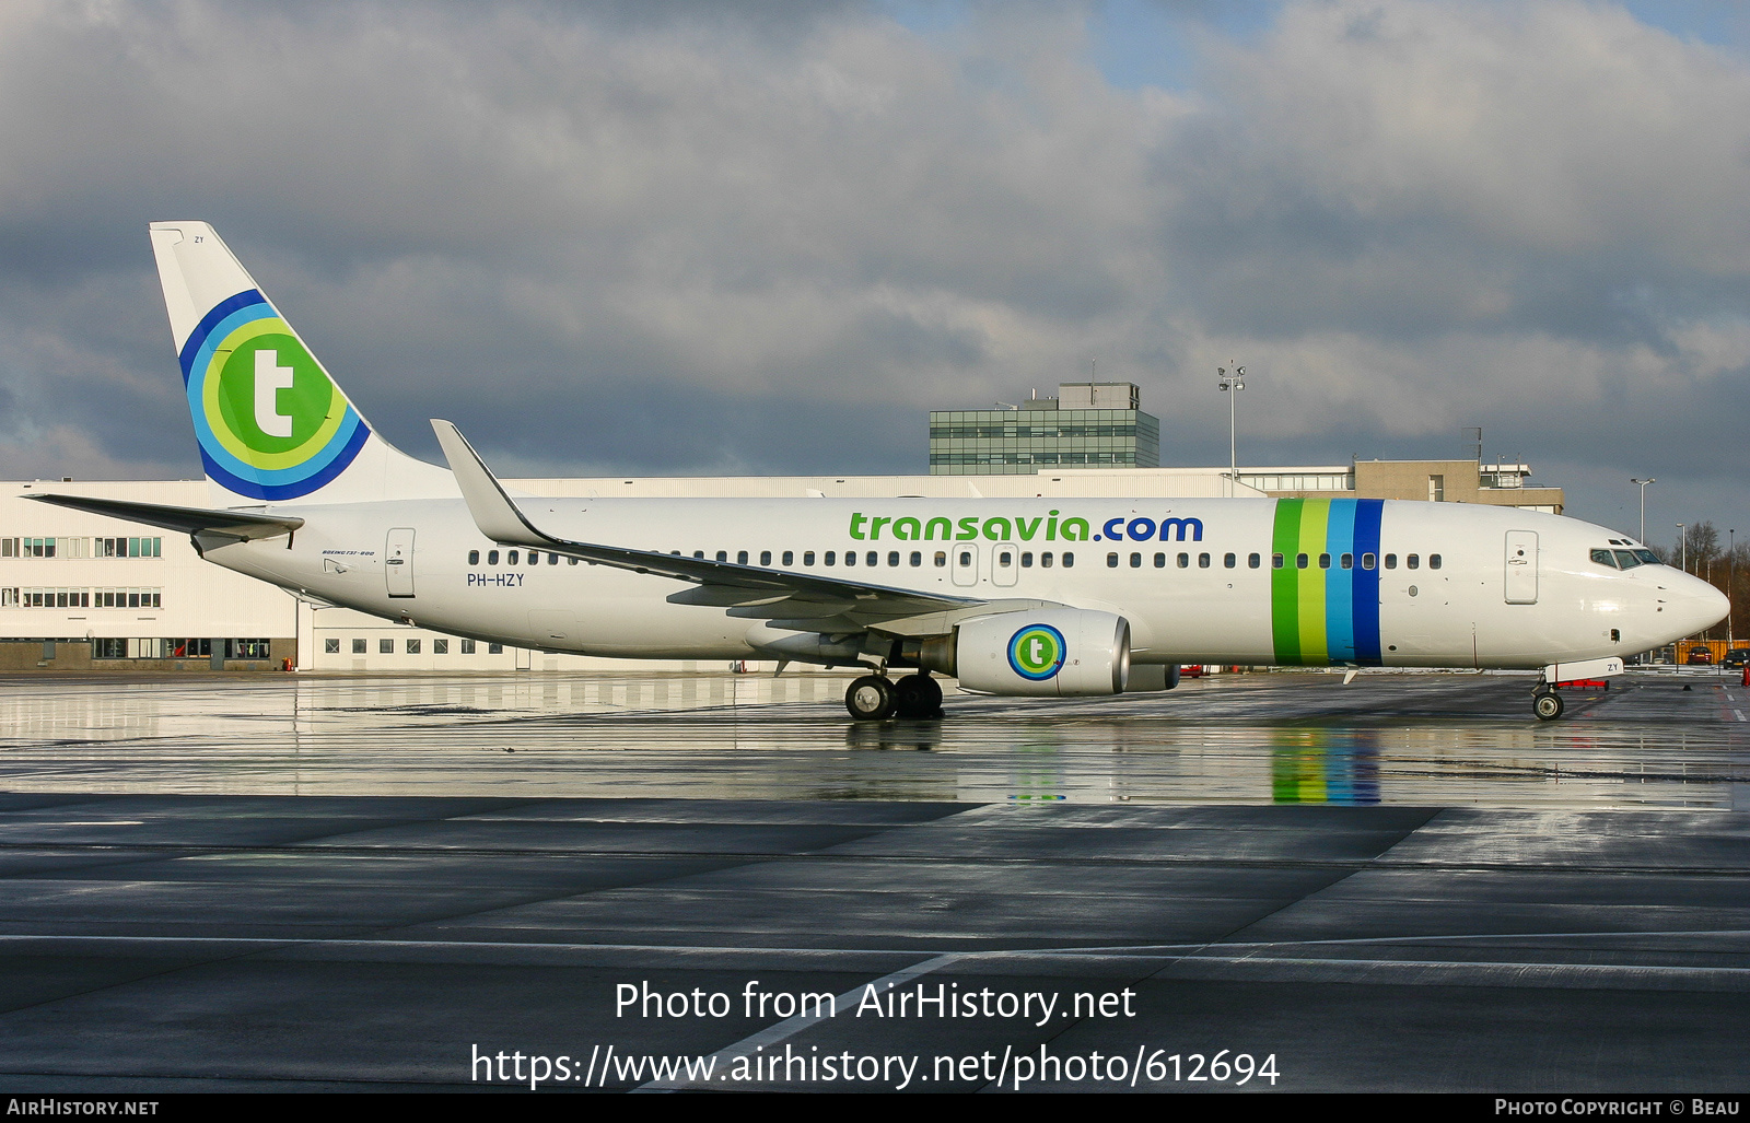
[[[1690,689],[1684,689],[1684,686]],[[850,722],[836,675],[14,679],[0,787],[976,803],[1750,805],[1750,691],[1638,677],[1528,715],[1508,675],[1237,675],[950,696]]]

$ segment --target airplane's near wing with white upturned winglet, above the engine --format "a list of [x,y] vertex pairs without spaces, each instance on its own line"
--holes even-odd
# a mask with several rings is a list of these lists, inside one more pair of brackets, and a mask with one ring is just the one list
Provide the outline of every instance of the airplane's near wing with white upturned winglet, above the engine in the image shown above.
[[[866,581],[819,574],[733,565],[646,549],[570,542],[537,528],[506,495],[480,453],[450,422],[432,420],[438,443],[462,488],[480,532],[500,546],[546,549],[595,565],[688,581],[695,588],[668,596],[670,603],[728,609],[730,616],[765,619],[794,631],[861,631],[880,626],[900,631],[947,630],[950,619],[990,610],[996,602],[898,589]],[[1008,602],[1003,602],[1008,603]],[[1026,602],[1040,603],[1040,602]]]

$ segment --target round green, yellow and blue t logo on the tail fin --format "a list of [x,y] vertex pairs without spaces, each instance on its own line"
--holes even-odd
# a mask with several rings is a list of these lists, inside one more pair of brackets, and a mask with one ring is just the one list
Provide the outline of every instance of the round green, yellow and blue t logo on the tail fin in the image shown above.
[[182,346],[206,474],[238,495],[310,495],[359,455],[369,427],[259,292],[206,313]]

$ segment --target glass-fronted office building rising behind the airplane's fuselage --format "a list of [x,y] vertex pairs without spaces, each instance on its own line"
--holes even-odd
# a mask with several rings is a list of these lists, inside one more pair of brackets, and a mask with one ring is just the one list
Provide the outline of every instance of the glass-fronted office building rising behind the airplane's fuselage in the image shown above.
[[[1068,383],[1020,408],[933,409],[931,476],[1017,476],[1041,467],[1160,467],[1160,420],[1129,383]],[[1111,409],[1124,404],[1127,409]]]

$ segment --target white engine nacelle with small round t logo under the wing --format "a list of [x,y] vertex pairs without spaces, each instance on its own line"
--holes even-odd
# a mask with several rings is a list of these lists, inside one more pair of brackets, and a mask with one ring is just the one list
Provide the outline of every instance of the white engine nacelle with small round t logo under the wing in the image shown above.
[[980,616],[954,644],[961,686],[984,694],[1120,694],[1130,675],[1130,621],[1045,609]]

